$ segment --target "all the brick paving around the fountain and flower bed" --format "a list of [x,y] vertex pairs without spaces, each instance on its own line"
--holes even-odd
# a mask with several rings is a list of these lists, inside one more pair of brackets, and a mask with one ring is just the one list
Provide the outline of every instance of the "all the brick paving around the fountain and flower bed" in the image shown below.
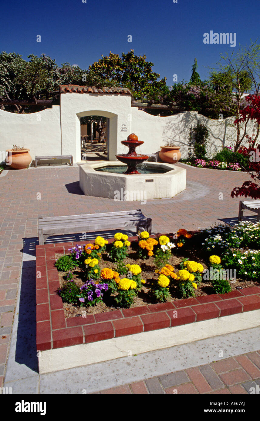
[[[249,176],[186,165],[185,168],[187,186],[184,192],[170,199],[148,200],[145,205],[84,196],[79,187],[77,166],[9,170],[0,177],[0,387],[4,381],[16,309],[23,241],[28,243],[32,238],[35,242],[38,216],[141,208],[152,218],[154,233],[205,228],[227,218],[236,220],[239,199],[231,199],[230,193]],[[252,214],[245,212],[245,215]],[[178,393],[249,393],[250,382],[256,379],[259,384],[259,378],[258,351],[105,392],[174,393],[174,389],[178,389]]]

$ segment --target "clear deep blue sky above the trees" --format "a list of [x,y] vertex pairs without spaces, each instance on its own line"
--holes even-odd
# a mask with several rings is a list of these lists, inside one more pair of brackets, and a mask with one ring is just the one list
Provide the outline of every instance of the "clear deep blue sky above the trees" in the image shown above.
[[[196,57],[201,79],[209,75],[220,53],[237,50],[257,38],[260,43],[259,0],[1,1],[1,51],[46,53],[58,64],[82,68],[109,55],[134,49],[154,63],[167,84],[190,80]],[[210,31],[236,33],[236,47],[204,44]],[[37,43],[37,35],[41,42]],[[132,35],[132,42],[127,36]]]

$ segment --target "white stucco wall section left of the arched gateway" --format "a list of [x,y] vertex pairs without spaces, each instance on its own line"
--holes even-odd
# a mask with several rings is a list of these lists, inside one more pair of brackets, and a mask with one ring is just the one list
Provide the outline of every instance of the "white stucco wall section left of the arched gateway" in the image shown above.
[[61,155],[59,106],[32,114],[0,110],[0,153],[13,144],[30,149],[32,160],[37,155]]

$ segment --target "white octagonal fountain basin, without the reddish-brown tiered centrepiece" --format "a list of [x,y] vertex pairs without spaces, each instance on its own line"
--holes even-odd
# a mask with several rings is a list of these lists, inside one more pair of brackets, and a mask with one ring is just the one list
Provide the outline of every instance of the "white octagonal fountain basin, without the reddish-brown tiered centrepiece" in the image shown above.
[[[122,173],[106,171],[121,166]],[[123,174],[126,165],[119,161],[92,161],[80,165],[80,188],[87,196],[126,201],[139,200],[139,197],[146,199],[173,197],[185,190],[186,170],[184,168],[155,162],[146,162],[145,166],[148,167],[149,172],[151,171],[150,173],[129,175]],[[156,171],[166,172],[156,173]],[[118,192],[120,199],[118,199]],[[129,194],[124,194],[124,192],[129,192]]]

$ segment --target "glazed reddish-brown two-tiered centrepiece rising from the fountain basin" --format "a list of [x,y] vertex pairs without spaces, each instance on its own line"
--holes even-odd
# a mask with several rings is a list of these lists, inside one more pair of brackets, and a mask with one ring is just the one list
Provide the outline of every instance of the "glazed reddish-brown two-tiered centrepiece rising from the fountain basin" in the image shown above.
[[137,164],[142,164],[149,157],[137,154],[135,148],[143,143],[143,141],[138,140],[137,135],[134,133],[129,134],[127,140],[121,141],[121,144],[129,147],[127,154],[115,155],[119,161],[127,165],[127,170],[123,174],[140,174],[136,169]]

